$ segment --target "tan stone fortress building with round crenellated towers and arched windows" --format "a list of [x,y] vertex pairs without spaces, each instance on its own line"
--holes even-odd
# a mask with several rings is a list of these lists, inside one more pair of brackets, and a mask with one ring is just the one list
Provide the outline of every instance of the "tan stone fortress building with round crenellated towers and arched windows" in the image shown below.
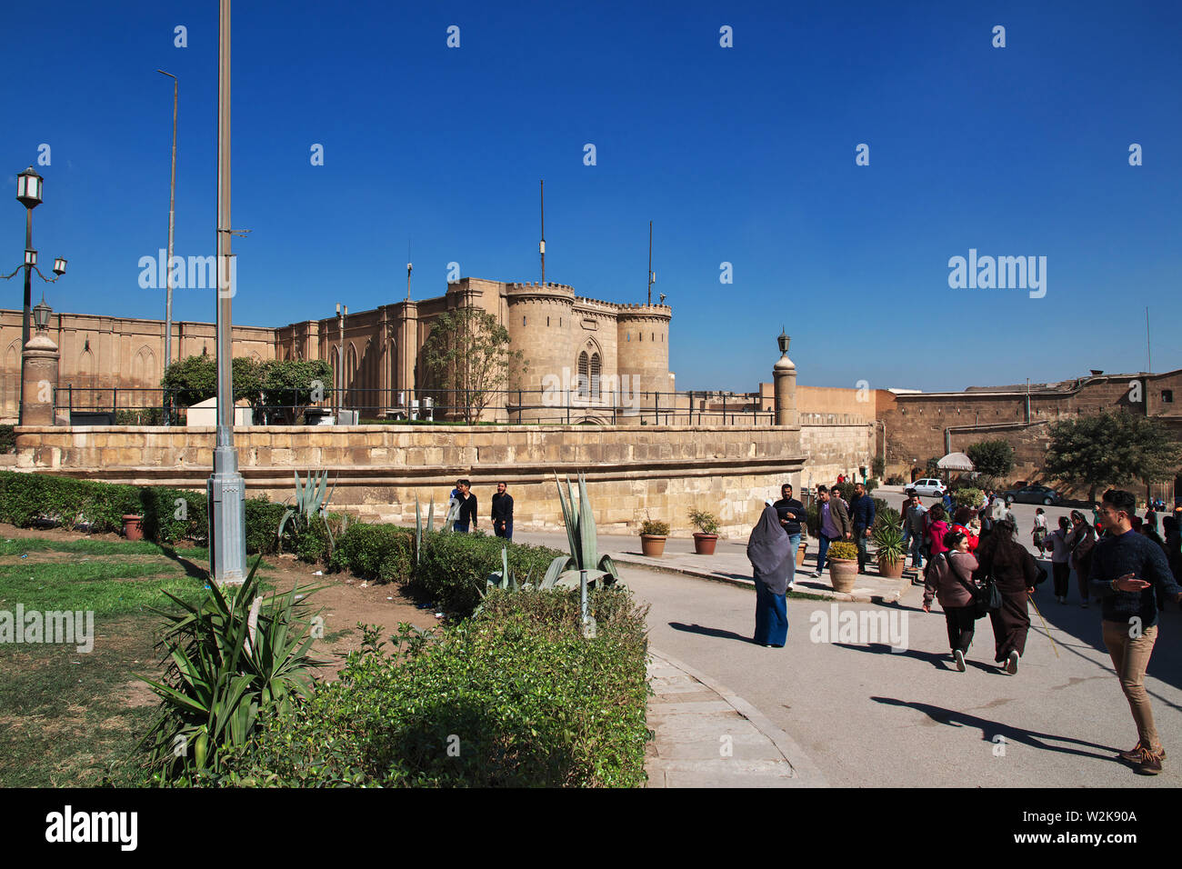
[[[576,296],[563,284],[509,284],[462,278],[443,296],[397,301],[371,311],[350,312],[342,335],[336,316],[286,326],[234,326],[234,355],[262,359],[326,359],[333,368],[344,354],[343,407],[363,417],[405,413],[431,383],[423,343],[431,322],[444,311],[472,305],[505,325],[511,348],[524,354],[526,371],[517,396],[504,396],[488,419],[565,420],[566,396],[578,396],[572,422],[610,420],[617,390],[674,391],[669,372],[668,305],[626,305]],[[0,311],[0,416],[17,416],[20,383],[20,311]],[[174,358],[214,352],[212,323],[173,324]],[[61,351],[59,391],[73,388],[78,404],[137,407],[158,402],[164,356],[163,320],[56,313],[50,336]],[[335,375],[336,376],[336,375]],[[546,397],[545,390],[551,395]],[[103,391],[95,391],[95,390]],[[123,395],[111,393],[123,390]],[[138,390],[138,391],[132,391]],[[553,403],[557,401],[558,407]],[[65,403],[60,400],[59,403]],[[508,407],[508,411],[506,411]]]

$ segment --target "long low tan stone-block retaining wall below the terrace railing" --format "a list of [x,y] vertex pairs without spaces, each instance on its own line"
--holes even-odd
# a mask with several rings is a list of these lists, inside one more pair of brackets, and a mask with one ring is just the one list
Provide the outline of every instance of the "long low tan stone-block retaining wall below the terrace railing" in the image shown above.
[[[479,527],[491,531],[492,495],[504,481],[514,527],[563,523],[554,475],[586,473],[596,523],[606,533],[637,531],[647,517],[690,531],[687,512],[707,510],[721,533],[745,537],[779,497],[801,485],[800,429],[643,426],[337,426],[243,427],[234,441],[248,497],[281,501],[293,472],[329,469],[332,507],[375,521],[413,525],[415,499],[440,514],[456,479],[472,480]],[[213,428],[22,427],[17,469],[131,485],[203,489]]]

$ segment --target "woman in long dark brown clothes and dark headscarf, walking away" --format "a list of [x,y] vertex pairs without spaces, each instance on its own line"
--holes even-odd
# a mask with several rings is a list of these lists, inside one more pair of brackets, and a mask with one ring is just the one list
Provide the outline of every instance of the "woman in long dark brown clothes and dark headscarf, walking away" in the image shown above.
[[1001,609],[989,610],[996,650],[994,661],[1014,675],[1026,651],[1026,634],[1031,627],[1026,603],[1046,573],[1039,571],[1034,556],[1014,539],[1014,526],[1008,519],[1000,520],[995,531],[976,551],[980,566],[973,579],[983,582],[992,577],[1001,592]]

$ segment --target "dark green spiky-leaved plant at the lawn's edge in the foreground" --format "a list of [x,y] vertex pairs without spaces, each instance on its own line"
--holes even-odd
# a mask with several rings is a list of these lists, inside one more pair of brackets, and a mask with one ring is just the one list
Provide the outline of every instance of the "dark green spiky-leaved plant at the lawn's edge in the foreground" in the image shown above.
[[316,588],[265,599],[261,560],[236,589],[210,582],[197,603],[164,592],[180,611],[154,610],[171,623],[160,641],[170,664],[161,682],[139,676],[161,698],[139,746],[165,780],[216,772],[220,750],[246,744],[260,719],[309,696],[310,669],[325,663],[309,655],[316,633],[301,618]]

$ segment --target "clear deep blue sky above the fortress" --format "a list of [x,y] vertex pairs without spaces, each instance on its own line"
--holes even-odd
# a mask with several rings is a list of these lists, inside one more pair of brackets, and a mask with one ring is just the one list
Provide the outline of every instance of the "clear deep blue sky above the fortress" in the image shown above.
[[[579,294],[642,301],[654,221],[681,389],[769,381],[781,325],[812,385],[1139,371],[1147,305],[1154,370],[1182,368],[1180,9],[239,2],[233,205],[252,233],[235,241],[234,319],[401,299],[408,235],[416,298],[442,293],[450,261],[538,280],[545,179],[546,278]],[[46,299],[163,317],[163,291],[138,285],[168,228],[173,95],[156,69],[181,80],[176,253],[206,255],[217,4],[45,0],[22,21],[37,53],[0,58],[0,177],[15,195],[51,145],[34,246],[70,268]],[[7,272],[24,208],[5,201]],[[950,288],[969,248],[1046,257],[1046,296]],[[0,290],[20,306],[19,280]],[[174,316],[212,319],[212,296],[176,291]]]

